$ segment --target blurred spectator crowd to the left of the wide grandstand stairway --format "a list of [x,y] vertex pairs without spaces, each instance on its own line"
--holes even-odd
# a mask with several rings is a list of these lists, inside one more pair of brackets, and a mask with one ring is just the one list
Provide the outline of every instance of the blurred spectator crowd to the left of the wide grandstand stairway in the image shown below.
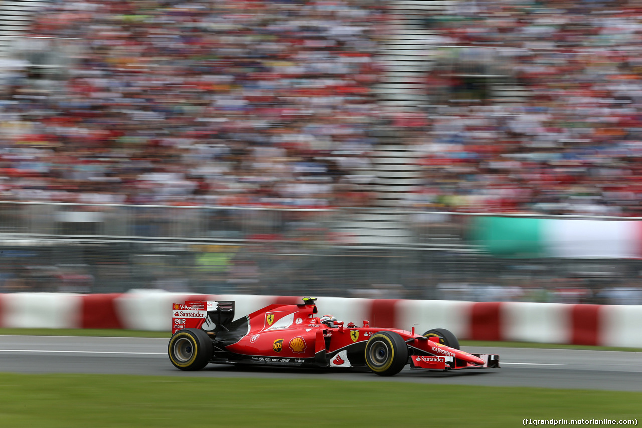
[[59,82],[5,85],[0,199],[369,204],[385,16],[364,0],[51,1],[31,36],[81,48]]

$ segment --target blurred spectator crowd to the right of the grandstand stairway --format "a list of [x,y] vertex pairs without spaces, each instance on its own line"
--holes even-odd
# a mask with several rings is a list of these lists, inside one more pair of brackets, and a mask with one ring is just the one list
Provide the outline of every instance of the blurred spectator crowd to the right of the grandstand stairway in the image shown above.
[[456,1],[429,15],[437,44],[495,46],[495,67],[474,58],[468,66],[496,73],[496,87],[511,83],[522,96],[484,98],[492,77],[480,87],[462,76],[465,67],[435,69],[430,91],[451,87],[459,99],[438,105],[428,127],[415,129],[425,168],[411,203],[640,215],[641,19],[639,1],[605,0]]

